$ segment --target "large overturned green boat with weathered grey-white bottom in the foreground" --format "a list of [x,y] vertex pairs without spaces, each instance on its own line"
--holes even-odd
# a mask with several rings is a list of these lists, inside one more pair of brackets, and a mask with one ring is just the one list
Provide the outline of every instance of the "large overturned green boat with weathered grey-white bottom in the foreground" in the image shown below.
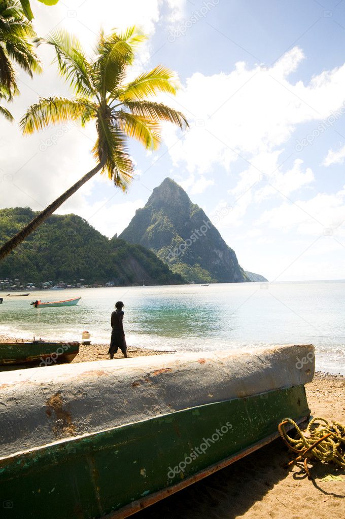
[[306,419],[313,373],[280,346],[2,374],[3,517],[128,517]]

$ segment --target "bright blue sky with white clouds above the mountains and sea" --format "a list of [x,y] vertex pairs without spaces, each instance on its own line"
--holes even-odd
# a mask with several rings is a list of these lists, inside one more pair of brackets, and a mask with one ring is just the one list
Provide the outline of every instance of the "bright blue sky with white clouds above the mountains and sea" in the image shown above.
[[[126,194],[98,175],[57,211],[120,234],[169,176],[217,222],[246,269],[270,281],[345,279],[345,1],[32,0],[39,36],[65,28],[92,55],[100,28],[149,36],[132,77],[157,64],[180,88],[165,103],[189,120],[165,124],[155,152],[130,143]],[[22,136],[39,96],[71,95],[47,46],[44,73],[19,73],[16,123],[0,119],[0,207],[44,209],[95,166],[95,127]],[[191,229],[191,231],[193,231]]]

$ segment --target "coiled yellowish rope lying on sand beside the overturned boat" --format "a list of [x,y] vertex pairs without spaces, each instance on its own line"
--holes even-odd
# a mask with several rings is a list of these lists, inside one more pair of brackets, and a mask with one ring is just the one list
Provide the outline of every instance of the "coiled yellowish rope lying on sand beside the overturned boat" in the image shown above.
[[[291,424],[298,433],[298,438],[291,438],[285,426]],[[299,456],[288,463],[288,467],[304,459],[304,469],[309,479],[308,459],[318,459],[323,463],[334,462],[345,469],[345,426],[337,421],[328,422],[325,418],[310,420],[306,431],[301,431],[291,418],[284,418],[278,425],[279,433],[286,445]]]

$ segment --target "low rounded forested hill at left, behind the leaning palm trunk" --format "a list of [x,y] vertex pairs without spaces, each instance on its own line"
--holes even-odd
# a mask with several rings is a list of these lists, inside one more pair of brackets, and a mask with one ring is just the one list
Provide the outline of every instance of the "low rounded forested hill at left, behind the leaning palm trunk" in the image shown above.
[[[0,243],[35,216],[29,208],[0,210]],[[109,240],[75,214],[52,215],[0,262],[0,279],[22,282],[173,284],[184,280],[141,245]]]

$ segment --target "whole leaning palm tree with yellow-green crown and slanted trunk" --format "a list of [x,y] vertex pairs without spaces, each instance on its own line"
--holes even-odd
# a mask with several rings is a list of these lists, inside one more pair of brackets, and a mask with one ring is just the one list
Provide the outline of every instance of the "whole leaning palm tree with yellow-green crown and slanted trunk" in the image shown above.
[[126,191],[134,172],[127,137],[137,139],[147,149],[156,149],[161,140],[160,121],[188,128],[183,114],[152,100],[161,92],[176,93],[174,73],[169,69],[158,65],[126,82],[134,51],[144,39],[135,27],[108,37],[101,32],[92,60],[87,59],[79,41],[65,31],[38,41],[55,47],[60,74],[72,86],[75,97],[39,99],[21,119],[21,129],[30,134],[71,119],[79,120],[82,126],[95,120],[98,136],[92,151],[97,165],[5,243],[0,260],[97,172],[107,172],[115,186]]

